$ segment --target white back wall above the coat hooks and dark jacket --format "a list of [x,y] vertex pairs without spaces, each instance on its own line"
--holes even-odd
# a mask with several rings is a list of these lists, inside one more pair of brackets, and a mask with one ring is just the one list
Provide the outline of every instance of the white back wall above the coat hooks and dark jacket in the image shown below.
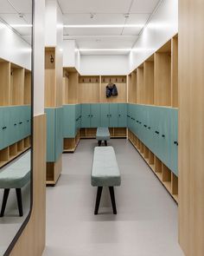
[[127,75],[128,56],[80,56],[81,75]]

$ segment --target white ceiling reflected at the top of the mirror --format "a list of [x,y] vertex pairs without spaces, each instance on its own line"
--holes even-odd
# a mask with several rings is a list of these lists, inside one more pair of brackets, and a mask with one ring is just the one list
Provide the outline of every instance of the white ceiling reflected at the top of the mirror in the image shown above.
[[[0,20],[9,25],[32,23],[32,0],[0,0]],[[31,28],[13,28],[22,38],[31,43]]]

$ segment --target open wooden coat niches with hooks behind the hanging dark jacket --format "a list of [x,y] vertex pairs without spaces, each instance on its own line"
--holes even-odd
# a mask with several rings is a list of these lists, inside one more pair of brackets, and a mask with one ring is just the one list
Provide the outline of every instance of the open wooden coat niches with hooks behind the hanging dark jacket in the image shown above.
[[[63,104],[127,102],[126,75],[80,75],[76,69],[64,68]],[[106,86],[116,84],[118,96],[106,98]]]

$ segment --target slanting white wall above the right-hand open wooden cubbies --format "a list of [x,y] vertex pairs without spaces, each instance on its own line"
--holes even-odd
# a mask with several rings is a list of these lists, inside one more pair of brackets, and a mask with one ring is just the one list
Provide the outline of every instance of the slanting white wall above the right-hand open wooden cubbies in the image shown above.
[[178,32],[178,0],[163,0],[129,56],[130,71]]

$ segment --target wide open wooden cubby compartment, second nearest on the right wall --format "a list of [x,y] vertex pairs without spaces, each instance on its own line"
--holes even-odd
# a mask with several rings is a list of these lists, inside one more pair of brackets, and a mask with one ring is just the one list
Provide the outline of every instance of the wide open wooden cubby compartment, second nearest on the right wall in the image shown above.
[[171,106],[171,40],[155,53],[155,105]]

